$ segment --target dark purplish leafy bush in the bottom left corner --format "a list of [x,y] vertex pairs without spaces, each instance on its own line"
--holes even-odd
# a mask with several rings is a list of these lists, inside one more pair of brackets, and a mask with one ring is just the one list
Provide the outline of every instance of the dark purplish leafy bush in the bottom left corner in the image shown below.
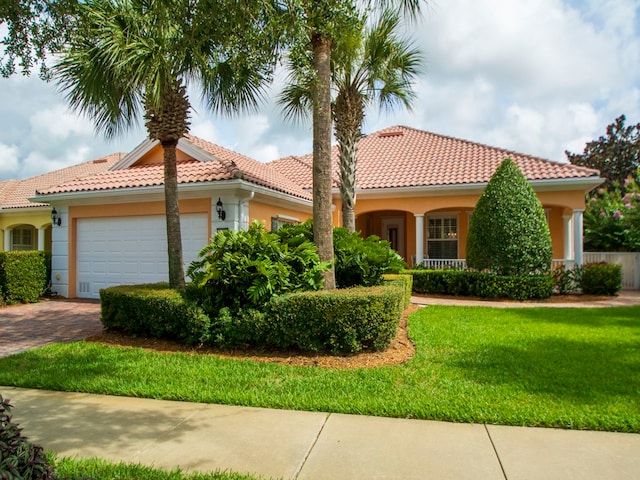
[[56,480],[44,450],[22,435],[11,423],[11,407],[0,394],[0,478],[11,480]]

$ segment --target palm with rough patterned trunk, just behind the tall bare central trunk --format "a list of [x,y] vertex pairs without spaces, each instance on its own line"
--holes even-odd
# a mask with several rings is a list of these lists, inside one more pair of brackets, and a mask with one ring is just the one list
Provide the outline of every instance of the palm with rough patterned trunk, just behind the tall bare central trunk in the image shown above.
[[[375,24],[341,36],[333,48],[332,116],[339,152],[342,219],[350,232],[355,231],[357,144],[365,110],[376,101],[381,108],[402,104],[410,109],[415,98],[412,84],[422,56],[398,35],[399,24],[397,13],[384,10]],[[280,96],[285,115],[298,118],[312,108],[311,85],[309,65],[294,62],[290,83]]]

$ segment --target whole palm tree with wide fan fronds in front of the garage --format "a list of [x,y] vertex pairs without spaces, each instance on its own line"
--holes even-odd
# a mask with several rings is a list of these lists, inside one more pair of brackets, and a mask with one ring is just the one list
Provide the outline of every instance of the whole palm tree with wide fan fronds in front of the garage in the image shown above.
[[[187,86],[199,86],[214,111],[255,107],[275,59],[275,42],[256,33],[269,28],[268,8],[248,15],[237,5],[248,4],[87,0],[80,5],[72,41],[54,66],[71,107],[92,118],[96,130],[113,137],[143,114],[149,138],[160,142],[169,285],[177,290],[184,290],[185,280],[176,147],[189,131]],[[221,12],[227,21],[216,18]],[[247,45],[245,38],[253,43]]]

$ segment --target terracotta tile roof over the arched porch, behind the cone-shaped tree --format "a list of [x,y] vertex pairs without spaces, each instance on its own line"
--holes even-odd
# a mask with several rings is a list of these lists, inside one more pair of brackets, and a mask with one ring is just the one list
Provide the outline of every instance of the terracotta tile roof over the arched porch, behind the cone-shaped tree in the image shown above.
[[[336,147],[332,149],[332,157],[336,183]],[[360,140],[356,182],[359,189],[486,183],[506,157],[511,158],[530,181],[598,178],[599,175],[597,170],[569,163],[395,126]],[[311,188],[311,162],[309,154],[281,158],[269,165],[303,188]]]

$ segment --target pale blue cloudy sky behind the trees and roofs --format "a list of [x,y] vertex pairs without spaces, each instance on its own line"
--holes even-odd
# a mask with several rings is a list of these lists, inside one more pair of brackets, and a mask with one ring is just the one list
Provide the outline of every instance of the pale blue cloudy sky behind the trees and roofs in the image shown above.
[[[429,0],[406,27],[425,58],[411,111],[367,111],[363,133],[393,125],[554,161],[581,153],[621,114],[640,122],[640,0]],[[280,72],[257,112],[199,106],[191,133],[269,161],[311,151],[311,122],[275,104]],[[145,140],[142,126],[107,141],[70,111],[54,83],[0,78],[0,180],[23,179]]]

